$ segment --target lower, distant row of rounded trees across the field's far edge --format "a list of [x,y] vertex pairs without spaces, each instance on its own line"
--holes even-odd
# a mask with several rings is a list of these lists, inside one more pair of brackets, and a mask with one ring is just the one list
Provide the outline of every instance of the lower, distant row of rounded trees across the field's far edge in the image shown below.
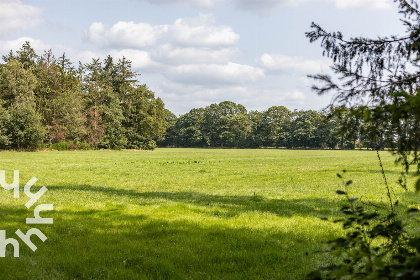
[[357,110],[336,107],[317,112],[290,111],[284,106],[247,112],[240,104],[224,101],[194,108],[179,118],[169,117],[167,131],[158,144],[326,149],[383,149],[389,146],[390,134],[385,127],[365,121],[367,112],[370,112],[367,107]]

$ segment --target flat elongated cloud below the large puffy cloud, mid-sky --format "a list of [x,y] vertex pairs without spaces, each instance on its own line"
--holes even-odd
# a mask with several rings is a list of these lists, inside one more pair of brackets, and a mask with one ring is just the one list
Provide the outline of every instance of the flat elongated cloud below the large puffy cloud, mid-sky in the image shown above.
[[178,83],[211,87],[220,84],[256,82],[264,77],[264,71],[260,68],[229,62],[227,64],[180,65],[169,68],[164,75],[169,80]]

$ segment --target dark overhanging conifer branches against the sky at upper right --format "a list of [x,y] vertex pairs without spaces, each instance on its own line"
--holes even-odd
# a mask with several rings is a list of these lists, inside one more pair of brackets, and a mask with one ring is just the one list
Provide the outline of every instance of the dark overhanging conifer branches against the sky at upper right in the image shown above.
[[420,171],[420,10],[414,0],[394,1],[406,27],[403,35],[346,39],[341,32],[312,23],[306,36],[321,42],[323,54],[334,62],[335,79],[326,74],[310,77],[321,83],[312,87],[318,94],[333,92],[332,106],[362,116],[371,136],[386,132],[388,145],[406,170],[417,164]]

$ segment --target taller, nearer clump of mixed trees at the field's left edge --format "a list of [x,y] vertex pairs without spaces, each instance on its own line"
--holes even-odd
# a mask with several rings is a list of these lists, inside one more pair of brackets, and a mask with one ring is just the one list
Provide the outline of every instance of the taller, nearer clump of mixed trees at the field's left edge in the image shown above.
[[103,61],[75,67],[51,50],[36,54],[29,42],[0,64],[0,148],[154,149],[168,110],[131,62]]

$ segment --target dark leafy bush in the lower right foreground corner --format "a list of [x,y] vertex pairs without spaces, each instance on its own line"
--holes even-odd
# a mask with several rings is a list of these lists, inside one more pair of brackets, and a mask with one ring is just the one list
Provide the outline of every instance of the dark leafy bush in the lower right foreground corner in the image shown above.
[[[337,176],[343,178],[342,174]],[[331,247],[326,251],[340,261],[320,267],[308,278],[419,279],[420,237],[404,229],[419,210],[397,211],[400,205],[392,199],[388,186],[389,207],[362,203],[358,198],[349,196],[351,184],[352,181],[347,181],[344,183],[345,191],[336,191],[346,197],[346,204],[340,209],[344,218],[334,222],[343,225],[346,236],[329,241]]]

